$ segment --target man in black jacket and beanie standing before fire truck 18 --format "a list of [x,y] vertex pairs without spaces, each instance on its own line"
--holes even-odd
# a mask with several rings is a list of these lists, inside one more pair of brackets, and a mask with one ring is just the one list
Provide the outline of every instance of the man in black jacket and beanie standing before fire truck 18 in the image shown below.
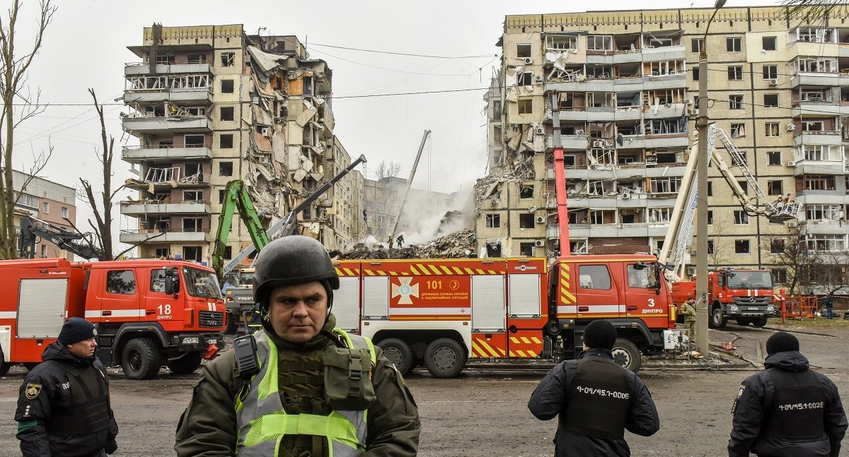
[[24,378],[14,414],[24,457],[102,457],[118,449],[97,345],[93,324],[72,317]]

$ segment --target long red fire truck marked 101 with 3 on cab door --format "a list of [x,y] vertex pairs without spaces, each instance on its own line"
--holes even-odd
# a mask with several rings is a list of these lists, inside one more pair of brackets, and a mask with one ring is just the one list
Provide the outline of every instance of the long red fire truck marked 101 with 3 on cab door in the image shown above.
[[457,376],[468,359],[571,359],[597,319],[617,327],[614,357],[633,371],[641,353],[678,341],[654,256],[571,255],[550,270],[545,262],[342,260],[333,313],[402,373],[423,363],[441,378]]

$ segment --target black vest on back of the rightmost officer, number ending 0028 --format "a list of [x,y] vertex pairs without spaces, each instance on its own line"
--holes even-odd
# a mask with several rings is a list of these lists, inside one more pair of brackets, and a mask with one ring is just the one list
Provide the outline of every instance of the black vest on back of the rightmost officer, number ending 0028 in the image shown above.
[[790,443],[824,439],[825,392],[817,376],[810,370],[789,372],[770,368],[767,371],[773,376],[775,392],[762,434]]

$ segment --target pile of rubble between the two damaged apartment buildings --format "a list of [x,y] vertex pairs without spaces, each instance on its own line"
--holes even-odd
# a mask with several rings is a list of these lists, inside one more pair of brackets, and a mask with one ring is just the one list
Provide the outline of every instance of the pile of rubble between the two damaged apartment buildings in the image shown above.
[[388,248],[385,243],[375,243],[369,248],[358,242],[351,252],[340,254],[340,259],[464,259],[475,254],[475,246],[475,232],[463,230],[402,248]]

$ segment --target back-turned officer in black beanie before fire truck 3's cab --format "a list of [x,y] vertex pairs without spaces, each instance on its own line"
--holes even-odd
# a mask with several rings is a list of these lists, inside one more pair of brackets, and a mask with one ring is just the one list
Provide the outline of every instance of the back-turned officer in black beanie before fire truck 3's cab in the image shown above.
[[661,428],[649,389],[613,362],[616,328],[593,320],[584,332],[584,352],[548,372],[531,394],[528,409],[537,419],[559,415],[556,456],[627,456],[625,431],[649,437]]

